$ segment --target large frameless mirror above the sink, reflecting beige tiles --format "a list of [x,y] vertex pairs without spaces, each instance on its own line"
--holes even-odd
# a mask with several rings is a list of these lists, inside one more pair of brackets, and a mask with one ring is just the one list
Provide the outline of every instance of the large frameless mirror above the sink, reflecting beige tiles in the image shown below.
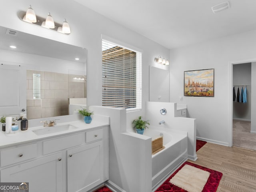
[[47,118],[86,107],[85,48],[1,26],[0,38],[0,116]]

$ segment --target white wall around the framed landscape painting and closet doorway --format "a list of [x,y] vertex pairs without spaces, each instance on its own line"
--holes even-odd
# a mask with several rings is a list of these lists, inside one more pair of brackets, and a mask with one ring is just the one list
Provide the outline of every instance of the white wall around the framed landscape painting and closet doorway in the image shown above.
[[[170,102],[187,104],[188,116],[197,120],[197,138],[231,146],[231,64],[256,58],[256,30],[170,50],[170,58]],[[184,71],[208,68],[214,68],[214,97],[184,96],[179,101]]]

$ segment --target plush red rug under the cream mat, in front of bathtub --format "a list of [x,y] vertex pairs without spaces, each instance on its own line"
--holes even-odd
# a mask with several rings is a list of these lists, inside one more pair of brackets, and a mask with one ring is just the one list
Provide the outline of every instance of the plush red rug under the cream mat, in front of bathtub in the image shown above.
[[178,186],[175,186],[174,184],[171,184],[169,181],[170,179],[185,165],[188,164],[190,166],[194,166],[196,168],[205,170],[210,172],[210,176],[204,186],[204,189],[202,190],[202,192],[216,192],[218,185],[220,183],[220,179],[222,177],[222,173],[206,168],[206,167],[202,167],[200,165],[196,165],[194,163],[191,162],[185,162],[184,164],[182,164],[182,166],[180,166],[155,192],[187,192],[186,190],[179,188]]

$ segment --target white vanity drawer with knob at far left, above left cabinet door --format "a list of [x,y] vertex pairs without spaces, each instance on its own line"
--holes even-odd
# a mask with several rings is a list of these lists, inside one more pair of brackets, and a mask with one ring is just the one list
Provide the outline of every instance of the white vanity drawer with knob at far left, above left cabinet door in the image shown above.
[[1,167],[29,160],[37,156],[37,144],[29,144],[20,147],[1,150]]

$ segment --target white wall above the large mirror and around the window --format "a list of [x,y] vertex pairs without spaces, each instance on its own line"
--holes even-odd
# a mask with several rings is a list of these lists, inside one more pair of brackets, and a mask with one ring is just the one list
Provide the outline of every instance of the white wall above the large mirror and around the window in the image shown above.
[[[30,4],[38,16],[46,17],[50,12],[55,22],[59,23],[66,18],[71,28],[71,34],[64,35],[22,22],[17,16],[18,11],[26,11]],[[73,0],[15,0],[15,3],[4,1],[0,10],[1,18],[6,18],[0,20],[0,26],[87,48],[88,106],[101,105],[102,101],[101,34],[142,50],[143,109],[142,111],[128,113],[127,123],[131,124],[133,119],[145,113],[145,102],[149,99],[148,66],[155,65],[154,58],[159,55],[169,60],[169,50],[167,48],[81,6]]]

